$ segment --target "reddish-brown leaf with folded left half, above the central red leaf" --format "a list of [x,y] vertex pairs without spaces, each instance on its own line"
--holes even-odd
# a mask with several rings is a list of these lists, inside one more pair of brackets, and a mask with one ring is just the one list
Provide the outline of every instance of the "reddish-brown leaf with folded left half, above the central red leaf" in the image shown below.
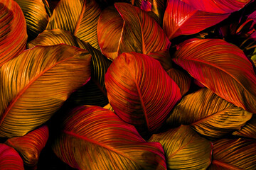
[[97,28],[103,54],[114,60],[122,52],[149,54],[169,50],[171,43],[164,31],[145,11],[127,3],[116,3],[114,6],[118,13],[113,8],[105,11],[110,14],[110,18],[102,13]]

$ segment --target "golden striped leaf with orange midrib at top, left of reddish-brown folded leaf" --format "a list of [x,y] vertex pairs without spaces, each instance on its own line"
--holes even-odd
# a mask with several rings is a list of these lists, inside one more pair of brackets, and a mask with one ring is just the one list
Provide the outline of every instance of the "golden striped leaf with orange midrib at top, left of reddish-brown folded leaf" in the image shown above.
[[97,20],[100,13],[100,6],[95,0],[60,0],[46,29],[68,30],[80,40],[87,41],[92,47],[99,49]]

